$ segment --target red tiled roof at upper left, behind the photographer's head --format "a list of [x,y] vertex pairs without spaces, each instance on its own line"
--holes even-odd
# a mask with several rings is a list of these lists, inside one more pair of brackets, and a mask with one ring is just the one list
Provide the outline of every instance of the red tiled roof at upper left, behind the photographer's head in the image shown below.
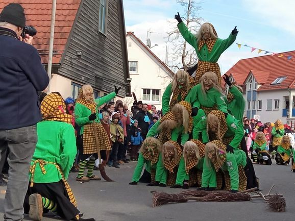
[[[24,8],[29,26],[37,30],[33,44],[39,51],[42,63],[48,62],[52,0],[2,0],[0,11],[9,3],[19,3]],[[75,20],[81,0],[57,0],[54,33],[53,64],[60,63],[62,53]]]

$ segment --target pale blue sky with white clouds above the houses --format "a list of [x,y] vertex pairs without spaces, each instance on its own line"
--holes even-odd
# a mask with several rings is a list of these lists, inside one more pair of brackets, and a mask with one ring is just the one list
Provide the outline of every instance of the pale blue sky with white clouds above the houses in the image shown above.
[[[237,26],[239,31],[235,42],[220,56],[218,64],[222,74],[240,59],[265,55],[259,48],[273,53],[295,50],[295,19],[293,0],[202,0],[195,2],[202,9],[198,12],[204,22],[213,24],[218,37],[226,39]],[[124,0],[125,25],[127,32],[134,34],[146,43],[147,31],[151,48],[162,61],[165,61],[168,45],[168,61],[171,61],[173,45],[168,41],[167,32],[177,26],[174,15],[184,14],[184,9],[176,0]],[[196,33],[198,30],[192,30]],[[182,38],[182,37],[181,37]],[[241,46],[246,44],[251,47]],[[269,55],[269,54],[267,54]],[[278,56],[278,55],[274,55]],[[287,59],[286,56],[281,59]],[[293,58],[295,59],[295,58]]]

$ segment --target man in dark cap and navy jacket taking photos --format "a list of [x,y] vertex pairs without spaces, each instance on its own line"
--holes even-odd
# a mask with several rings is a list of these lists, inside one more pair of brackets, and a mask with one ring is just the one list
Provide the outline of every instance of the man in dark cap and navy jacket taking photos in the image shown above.
[[[49,82],[33,37],[21,37],[26,26],[24,10],[9,4],[0,14],[0,161],[9,149],[9,178],[4,219],[22,220],[29,168],[37,142],[36,123],[41,120],[37,91]],[[2,168],[0,168],[1,170]]]

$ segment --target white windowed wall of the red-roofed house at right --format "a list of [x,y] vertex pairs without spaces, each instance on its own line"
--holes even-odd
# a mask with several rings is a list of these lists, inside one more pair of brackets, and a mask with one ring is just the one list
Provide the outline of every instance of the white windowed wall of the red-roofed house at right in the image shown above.
[[[282,119],[283,123],[286,122],[286,117],[282,117],[282,111],[285,109],[285,98],[289,96],[289,92],[286,89],[283,90],[267,90],[258,91],[258,99],[262,100],[262,109],[257,110],[256,114],[260,116],[261,122],[275,122],[276,119]],[[267,109],[267,100],[272,99],[272,110]],[[279,110],[274,110],[275,100],[280,100]]]

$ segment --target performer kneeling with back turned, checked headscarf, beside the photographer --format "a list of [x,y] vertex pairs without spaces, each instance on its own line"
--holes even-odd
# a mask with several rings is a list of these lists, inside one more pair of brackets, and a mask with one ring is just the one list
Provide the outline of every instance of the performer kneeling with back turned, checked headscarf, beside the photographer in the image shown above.
[[56,212],[65,220],[81,218],[76,199],[66,181],[75,160],[76,138],[58,92],[48,94],[41,104],[43,120],[37,124],[38,142],[31,162],[30,183],[24,200],[24,212],[41,220],[43,209]]

